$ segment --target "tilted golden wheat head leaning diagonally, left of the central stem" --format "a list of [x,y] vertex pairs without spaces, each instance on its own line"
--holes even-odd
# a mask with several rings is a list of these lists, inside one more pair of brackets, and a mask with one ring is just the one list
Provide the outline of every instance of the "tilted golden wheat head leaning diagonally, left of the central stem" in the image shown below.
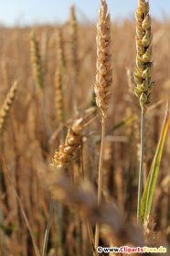
[[83,119],[76,120],[66,135],[65,143],[59,145],[59,150],[56,151],[52,165],[57,168],[67,167],[73,160],[82,139]]

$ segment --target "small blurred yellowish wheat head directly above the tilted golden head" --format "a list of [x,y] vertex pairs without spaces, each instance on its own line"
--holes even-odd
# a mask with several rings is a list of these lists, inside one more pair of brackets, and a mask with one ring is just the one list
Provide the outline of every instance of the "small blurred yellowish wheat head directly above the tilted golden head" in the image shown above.
[[55,75],[55,106],[58,122],[64,122],[64,106],[63,106],[63,92],[62,92],[62,72],[60,66],[56,70]]

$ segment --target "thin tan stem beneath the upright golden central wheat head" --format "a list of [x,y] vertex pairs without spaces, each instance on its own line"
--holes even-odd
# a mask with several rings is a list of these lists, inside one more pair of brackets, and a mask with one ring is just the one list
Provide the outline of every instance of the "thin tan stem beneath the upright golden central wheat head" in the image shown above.
[[[105,116],[102,114],[101,118],[101,154],[100,154],[100,164],[99,164],[99,179],[98,179],[98,204],[101,204],[101,191],[102,191],[102,158],[104,151],[104,137],[105,137]],[[95,229],[95,249],[99,246],[99,234],[100,227],[99,223],[96,223]]]

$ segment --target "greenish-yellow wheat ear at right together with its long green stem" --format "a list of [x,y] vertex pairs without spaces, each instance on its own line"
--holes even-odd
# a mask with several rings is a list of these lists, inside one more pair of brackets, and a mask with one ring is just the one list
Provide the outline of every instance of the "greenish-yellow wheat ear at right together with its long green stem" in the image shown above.
[[140,220],[141,197],[143,190],[143,155],[144,155],[144,113],[150,103],[151,91],[154,86],[152,80],[152,32],[149,2],[139,0],[136,11],[136,68],[134,70],[134,88],[141,105],[141,156],[139,167],[137,219]]

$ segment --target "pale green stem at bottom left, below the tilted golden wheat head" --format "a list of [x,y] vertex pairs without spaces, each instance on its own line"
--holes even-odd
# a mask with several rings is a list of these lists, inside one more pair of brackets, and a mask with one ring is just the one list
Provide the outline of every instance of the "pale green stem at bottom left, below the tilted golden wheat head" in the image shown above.
[[54,211],[54,199],[50,199],[50,205],[49,205],[49,216],[48,216],[48,225],[45,233],[45,238],[44,238],[44,246],[43,246],[43,253],[42,256],[47,256],[47,251],[48,251],[48,237],[49,237],[49,230],[51,226],[51,220],[52,220],[52,215]]

